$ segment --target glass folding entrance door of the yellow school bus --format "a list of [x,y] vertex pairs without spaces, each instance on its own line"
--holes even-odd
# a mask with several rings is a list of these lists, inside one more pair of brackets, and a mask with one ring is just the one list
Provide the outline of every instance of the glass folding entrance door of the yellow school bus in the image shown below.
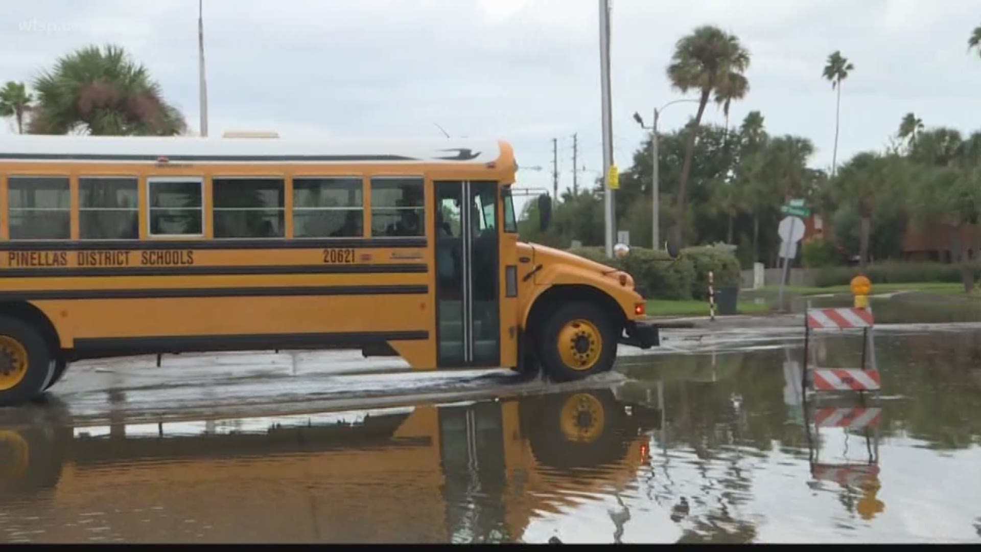
[[497,183],[437,181],[435,187],[438,365],[497,366]]

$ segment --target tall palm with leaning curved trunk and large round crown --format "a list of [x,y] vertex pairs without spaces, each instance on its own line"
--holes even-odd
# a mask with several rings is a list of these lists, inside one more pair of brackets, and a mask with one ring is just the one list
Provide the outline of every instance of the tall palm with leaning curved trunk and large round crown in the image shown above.
[[[695,89],[699,94],[698,111],[686,140],[685,161],[678,182],[678,210],[674,238],[679,247],[683,245],[682,229],[685,228],[686,189],[692,172],[692,154],[705,105],[713,91],[734,87],[732,83],[738,80],[735,76],[738,75],[745,80],[743,74],[747,68],[749,68],[749,52],[740,44],[736,35],[720,28],[710,26],[696,28],[692,34],[683,36],[675,44],[675,52],[667,68],[668,79],[672,86],[682,92]],[[743,86],[744,90],[748,87],[749,83]],[[732,99],[736,99],[736,96]]]

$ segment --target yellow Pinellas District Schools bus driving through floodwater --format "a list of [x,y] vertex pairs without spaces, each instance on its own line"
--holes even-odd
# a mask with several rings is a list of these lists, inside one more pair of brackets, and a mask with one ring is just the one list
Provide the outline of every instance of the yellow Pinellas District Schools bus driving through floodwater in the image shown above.
[[354,348],[570,380],[656,345],[629,274],[518,242],[515,170],[481,139],[0,138],[0,405],[76,359]]

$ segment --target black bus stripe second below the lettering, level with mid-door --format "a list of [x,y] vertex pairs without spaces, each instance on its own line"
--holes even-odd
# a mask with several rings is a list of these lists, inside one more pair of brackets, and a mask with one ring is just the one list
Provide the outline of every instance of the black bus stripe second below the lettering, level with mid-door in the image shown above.
[[0,301],[39,301],[65,299],[158,299],[211,297],[286,297],[286,296],[364,296],[425,295],[426,285],[395,286],[320,286],[258,288],[158,288],[129,290],[26,290],[0,292]]

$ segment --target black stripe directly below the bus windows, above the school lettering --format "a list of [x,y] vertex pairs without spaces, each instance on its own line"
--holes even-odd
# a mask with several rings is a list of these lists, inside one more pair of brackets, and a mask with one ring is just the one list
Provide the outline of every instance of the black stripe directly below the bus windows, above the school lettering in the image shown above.
[[107,240],[99,242],[25,240],[0,242],[0,251],[107,249],[319,249],[425,248],[426,238],[335,238],[325,240]]

